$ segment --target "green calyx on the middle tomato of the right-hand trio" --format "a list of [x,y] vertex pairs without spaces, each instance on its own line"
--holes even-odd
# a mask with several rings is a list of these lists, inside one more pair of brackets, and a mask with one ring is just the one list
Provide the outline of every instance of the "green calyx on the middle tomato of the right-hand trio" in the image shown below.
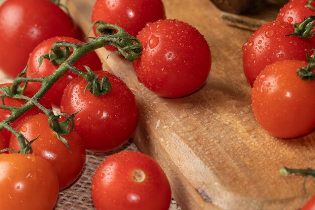
[[[312,7],[312,6],[311,6]],[[295,23],[294,33],[288,34],[286,36],[297,36],[300,38],[309,38],[315,34],[315,32],[311,32],[314,28],[314,21],[315,16],[309,16],[308,18],[304,19],[302,23]]]

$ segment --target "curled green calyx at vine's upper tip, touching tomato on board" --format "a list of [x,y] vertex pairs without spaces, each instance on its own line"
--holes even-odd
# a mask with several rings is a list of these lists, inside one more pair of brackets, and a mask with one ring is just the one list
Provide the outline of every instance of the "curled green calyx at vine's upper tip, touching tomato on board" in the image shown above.
[[103,37],[111,37],[111,39],[108,40],[108,44],[111,44],[118,49],[111,54],[122,54],[129,61],[138,59],[142,49],[142,44],[138,39],[130,36],[122,28],[103,21],[92,23],[90,30],[96,24],[98,24],[96,27],[97,34]]

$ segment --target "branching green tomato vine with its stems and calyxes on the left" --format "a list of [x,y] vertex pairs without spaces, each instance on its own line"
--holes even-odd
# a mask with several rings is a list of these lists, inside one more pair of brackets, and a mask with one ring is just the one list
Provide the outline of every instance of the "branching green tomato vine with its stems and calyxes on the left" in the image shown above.
[[[90,51],[104,47],[108,44],[117,47],[118,50],[114,53],[121,53],[126,59],[130,61],[136,60],[141,55],[140,41],[130,36],[122,28],[101,21],[95,22],[93,26],[96,24],[97,32],[100,36],[94,38],[91,42],[84,44],[74,44],[63,41],[55,42],[52,45],[49,53],[40,57],[40,64],[43,59],[49,59],[52,64],[59,65],[58,69],[52,75],[41,78],[26,78],[26,67],[23,72],[14,80],[12,87],[0,87],[0,91],[3,93],[2,95],[0,95],[0,98],[3,102],[3,105],[0,105],[0,108],[10,110],[12,113],[7,119],[0,122],[0,131],[3,129],[7,129],[17,136],[21,148],[19,153],[32,153],[31,144],[35,141],[36,138],[28,141],[28,139],[26,139],[22,133],[19,133],[17,130],[11,127],[10,124],[21,115],[23,115],[25,112],[27,112],[29,109],[31,109],[33,106],[37,106],[48,116],[49,127],[68,147],[68,144],[66,140],[62,137],[62,135],[66,135],[73,130],[73,119],[76,113],[60,113],[55,115],[52,110],[46,109],[38,102],[51,88],[51,86],[57,80],[59,80],[67,71],[72,71],[77,75],[83,77],[88,82],[86,90],[89,90],[95,96],[104,95],[111,90],[110,82],[107,77],[99,79],[98,76],[95,75],[88,66],[85,66],[87,72],[82,72],[79,69],[73,67],[75,61],[77,61]],[[70,54],[70,49],[72,49],[73,51],[72,54]],[[39,82],[42,84],[39,91],[32,98],[23,95],[23,91],[26,89],[28,82]],[[6,97],[26,100],[27,102],[21,107],[7,106],[5,105],[4,100]],[[61,116],[65,118],[65,120],[59,122],[59,118]],[[6,149],[0,152],[8,150],[11,149]]]

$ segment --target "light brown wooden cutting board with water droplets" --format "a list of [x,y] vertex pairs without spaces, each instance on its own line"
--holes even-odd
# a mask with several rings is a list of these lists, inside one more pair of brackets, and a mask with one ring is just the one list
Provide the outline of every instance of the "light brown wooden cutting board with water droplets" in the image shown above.
[[[69,0],[74,20],[89,29],[95,1]],[[98,50],[106,68],[136,95],[139,149],[168,175],[183,210],[298,209],[315,194],[315,179],[283,177],[279,169],[315,167],[315,134],[297,139],[272,137],[256,122],[251,88],[242,68],[242,44],[251,32],[220,19],[209,0],[165,0],[168,18],[196,27],[211,46],[212,68],[196,93],[166,99],[139,84],[130,62]],[[152,195],[154,196],[154,195]]]

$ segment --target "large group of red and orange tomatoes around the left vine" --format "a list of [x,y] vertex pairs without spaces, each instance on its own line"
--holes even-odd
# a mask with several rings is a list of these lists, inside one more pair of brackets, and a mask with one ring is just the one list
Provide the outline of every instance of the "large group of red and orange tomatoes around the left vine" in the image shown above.
[[[27,64],[28,82],[23,95],[33,97],[42,84],[35,79],[49,77],[60,65],[49,59],[53,43],[82,44],[81,31],[57,5],[48,0],[7,0],[0,7],[0,68],[17,77]],[[204,37],[192,26],[166,20],[161,0],[98,0],[94,21],[122,27],[142,43],[142,55],[133,62],[139,82],[163,97],[182,97],[198,90],[211,67],[211,53]],[[96,33],[96,36],[99,34]],[[106,46],[109,50],[117,50]],[[72,53],[70,49],[70,54]],[[19,136],[8,129],[0,132],[0,203],[4,209],[52,209],[58,191],[80,176],[86,149],[105,152],[123,145],[134,132],[139,110],[134,94],[116,76],[102,71],[94,51],[73,65],[82,72],[89,66],[99,78],[107,77],[111,90],[96,97],[86,90],[88,82],[68,71],[54,83],[40,104],[46,109],[60,107],[61,113],[76,113],[74,130],[62,135],[69,149],[50,128],[43,109],[33,107],[10,126],[31,141],[32,154],[21,151]],[[1,87],[12,84],[2,84]],[[22,89],[22,88],[21,88]],[[2,93],[5,94],[5,93]],[[4,97],[2,105],[21,107],[26,101]],[[12,109],[0,109],[0,120]],[[34,141],[33,141],[34,140]],[[9,154],[7,154],[9,153]],[[92,182],[97,209],[166,210],[171,200],[170,184],[159,165],[137,152],[115,154],[99,166]],[[23,207],[22,207],[23,206]]]

